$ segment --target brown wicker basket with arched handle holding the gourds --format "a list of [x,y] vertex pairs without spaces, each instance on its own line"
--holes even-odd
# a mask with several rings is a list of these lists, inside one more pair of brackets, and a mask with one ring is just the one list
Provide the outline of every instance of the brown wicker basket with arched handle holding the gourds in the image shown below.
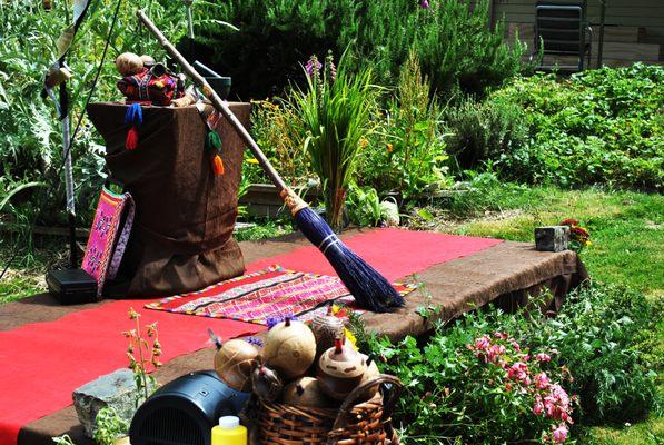
[[[380,385],[376,395],[357,400],[367,389]],[[392,409],[402,392],[400,380],[381,374],[357,387],[339,409],[295,407],[262,403],[254,397],[247,417],[251,419],[252,444],[261,445],[398,445],[392,427]]]

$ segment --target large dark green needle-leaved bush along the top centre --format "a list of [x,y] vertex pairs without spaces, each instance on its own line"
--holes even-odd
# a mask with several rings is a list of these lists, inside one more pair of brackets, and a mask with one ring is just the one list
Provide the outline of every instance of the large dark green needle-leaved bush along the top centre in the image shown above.
[[414,50],[434,90],[483,95],[521,71],[523,48],[509,49],[504,27],[488,27],[488,3],[430,0],[229,0],[220,17],[240,31],[204,27],[199,55],[234,77],[242,98],[279,93],[303,79],[299,63],[348,46],[375,63],[378,80],[394,85]]

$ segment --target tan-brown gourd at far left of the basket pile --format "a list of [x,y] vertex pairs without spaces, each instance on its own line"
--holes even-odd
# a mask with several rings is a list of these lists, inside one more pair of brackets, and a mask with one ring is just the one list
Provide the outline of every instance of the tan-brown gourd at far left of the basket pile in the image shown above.
[[215,370],[229,387],[242,393],[251,390],[251,370],[258,349],[240,339],[228,340],[215,355]]

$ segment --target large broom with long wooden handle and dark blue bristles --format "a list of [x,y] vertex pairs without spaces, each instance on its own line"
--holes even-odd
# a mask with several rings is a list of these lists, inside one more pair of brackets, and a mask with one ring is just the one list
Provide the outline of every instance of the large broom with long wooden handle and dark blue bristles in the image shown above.
[[212,90],[209,83],[187,62],[178,50],[168,41],[161,31],[152,23],[142,10],[137,11],[141,22],[155,34],[166,51],[177,60],[185,72],[201,88],[217,111],[230,122],[242,140],[249,146],[254,156],[279,190],[279,195],[290,209],[300,231],[307,239],[325,255],[346,285],[357,304],[376,313],[390,312],[394,307],[404,306],[404,298],[383,275],[368,265],[357,254],[350,250],[325,220],[293,191],[271,166],[258,144],[251,138],[247,129],[230,111],[228,105]]

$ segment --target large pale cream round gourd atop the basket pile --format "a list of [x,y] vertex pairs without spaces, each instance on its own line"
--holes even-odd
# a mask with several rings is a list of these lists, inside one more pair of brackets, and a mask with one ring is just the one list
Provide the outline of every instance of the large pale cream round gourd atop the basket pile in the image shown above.
[[265,364],[291,380],[304,375],[316,358],[316,338],[307,325],[286,318],[265,335]]

